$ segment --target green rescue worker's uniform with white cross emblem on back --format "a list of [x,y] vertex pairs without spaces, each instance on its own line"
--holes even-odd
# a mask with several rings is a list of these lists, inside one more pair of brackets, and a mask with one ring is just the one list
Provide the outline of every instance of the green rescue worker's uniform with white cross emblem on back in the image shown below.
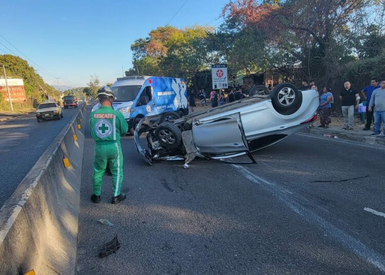
[[123,154],[120,137],[128,131],[123,114],[112,107],[101,106],[91,112],[91,133],[95,140],[95,156],[93,159],[93,193],[102,192],[103,175],[107,163],[112,173],[113,197],[120,195],[123,182]]

